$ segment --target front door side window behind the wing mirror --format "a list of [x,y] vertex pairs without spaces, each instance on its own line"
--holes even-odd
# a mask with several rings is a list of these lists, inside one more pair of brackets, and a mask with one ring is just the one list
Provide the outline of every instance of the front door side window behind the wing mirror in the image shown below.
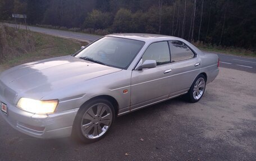
[[170,52],[167,42],[150,44],[142,56],[142,61],[155,60],[157,65],[170,63]]

